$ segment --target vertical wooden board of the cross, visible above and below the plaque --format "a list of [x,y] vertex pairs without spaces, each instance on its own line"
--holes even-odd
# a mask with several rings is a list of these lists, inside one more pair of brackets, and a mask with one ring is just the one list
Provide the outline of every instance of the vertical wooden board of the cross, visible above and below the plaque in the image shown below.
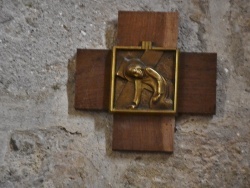
[[[176,48],[178,13],[119,12],[118,45]],[[114,114],[113,150],[173,152],[175,117]]]

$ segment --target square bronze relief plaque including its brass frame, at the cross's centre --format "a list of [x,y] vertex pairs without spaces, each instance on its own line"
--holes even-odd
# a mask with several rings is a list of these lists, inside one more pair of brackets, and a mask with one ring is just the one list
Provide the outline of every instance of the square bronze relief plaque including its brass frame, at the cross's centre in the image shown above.
[[115,46],[111,71],[110,111],[175,114],[177,49]]

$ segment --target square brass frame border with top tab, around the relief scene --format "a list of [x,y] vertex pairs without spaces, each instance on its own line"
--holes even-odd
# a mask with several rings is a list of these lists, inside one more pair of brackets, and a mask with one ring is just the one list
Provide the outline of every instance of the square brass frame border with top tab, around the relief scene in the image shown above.
[[[139,110],[139,109],[115,109],[114,108],[114,92],[116,79],[116,50],[161,50],[161,51],[175,51],[175,83],[174,83],[174,109],[173,110]],[[112,113],[148,113],[148,114],[176,114],[177,112],[177,87],[178,87],[178,67],[179,67],[179,49],[167,49],[162,47],[153,47],[150,41],[143,41],[142,46],[114,46],[112,54],[111,66],[111,90],[110,90],[110,106],[109,111]]]

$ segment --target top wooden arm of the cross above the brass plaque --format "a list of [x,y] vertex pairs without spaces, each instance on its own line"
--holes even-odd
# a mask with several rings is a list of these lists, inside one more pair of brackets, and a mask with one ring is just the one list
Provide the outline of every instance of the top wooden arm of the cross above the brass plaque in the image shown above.
[[178,13],[127,12],[118,14],[117,45],[139,46],[142,41],[153,45],[176,48],[178,38]]

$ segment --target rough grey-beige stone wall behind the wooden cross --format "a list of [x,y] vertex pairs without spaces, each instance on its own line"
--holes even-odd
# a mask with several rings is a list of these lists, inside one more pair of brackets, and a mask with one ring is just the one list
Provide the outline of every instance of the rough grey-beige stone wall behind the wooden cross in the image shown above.
[[[118,10],[179,11],[179,48],[218,53],[216,115],[180,115],[172,155],[113,152],[112,116],[73,108]],[[0,0],[0,143],[0,187],[250,187],[250,1]]]

